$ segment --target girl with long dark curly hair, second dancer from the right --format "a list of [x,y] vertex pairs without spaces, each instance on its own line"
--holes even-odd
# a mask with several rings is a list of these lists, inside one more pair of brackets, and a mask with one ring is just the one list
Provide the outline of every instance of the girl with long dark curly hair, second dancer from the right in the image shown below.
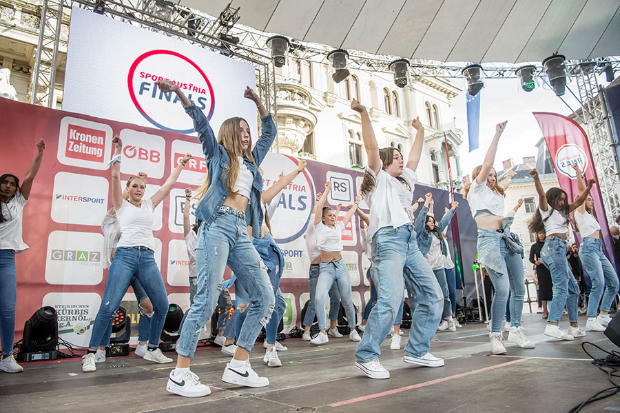
[[[568,195],[560,188],[550,188],[545,193],[536,169],[530,171],[530,176],[534,179],[539,203],[538,210],[528,223],[528,228],[532,232],[544,231],[547,234],[545,245],[541,250],[541,260],[549,269],[553,283],[553,300],[549,308],[544,334],[556,339],[573,340],[575,337],[585,336],[586,332],[579,328],[577,319],[579,288],[568,267],[568,259],[566,259],[568,214],[586,201],[595,180],[590,179],[588,186],[579,193],[579,196],[572,203],[568,203]],[[568,333],[558,325],[564,305],[568,310],[570,321]]]

